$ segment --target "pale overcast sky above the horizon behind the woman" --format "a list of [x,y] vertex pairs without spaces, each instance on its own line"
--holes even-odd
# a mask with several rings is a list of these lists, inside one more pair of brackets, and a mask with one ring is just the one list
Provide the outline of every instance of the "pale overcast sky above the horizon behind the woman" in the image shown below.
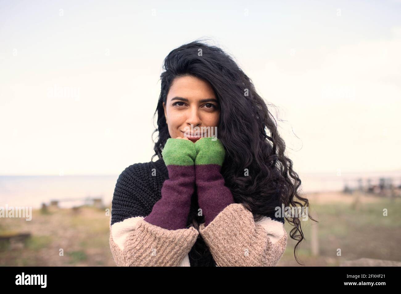
[[0,174],[150,161],[162,61],[201,37],[277,106],[296,171],[399,170],[400,16],[401,1],[0,1]]

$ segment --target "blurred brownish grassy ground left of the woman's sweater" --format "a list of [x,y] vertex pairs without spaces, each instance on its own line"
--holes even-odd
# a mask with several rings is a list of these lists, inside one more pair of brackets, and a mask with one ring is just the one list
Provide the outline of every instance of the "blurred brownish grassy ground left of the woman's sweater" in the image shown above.
[[0,266],[115,265],[109,249],[109,216],[104,210],[53,209],[49,214],[33,210],[30,221],[4,218],[0,234],[10,230],[30,232],[32,237],[24,244],[2,242]]

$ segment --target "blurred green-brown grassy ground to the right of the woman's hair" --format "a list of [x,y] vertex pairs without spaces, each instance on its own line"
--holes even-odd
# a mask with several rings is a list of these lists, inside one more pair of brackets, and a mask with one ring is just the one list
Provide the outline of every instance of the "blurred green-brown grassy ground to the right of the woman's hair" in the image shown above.
[[[298,246],[298,255],[305,266],[339,266],[342,261],[359,258],[401,261],[401,199],[367,197],[342,193],[316,194],[308,197],[309,213],[316,216],[319,256],[311,252],[311,228],[316,222],[301,221],[305,237]],[[387,216],[383,216],[383,209]],[[286,231],[294,228],[286,223]],[[288,239],[288,245],[278,266],[300,266],[294,258],[298,241]],[[337,255],[338,249],[341,256]]]

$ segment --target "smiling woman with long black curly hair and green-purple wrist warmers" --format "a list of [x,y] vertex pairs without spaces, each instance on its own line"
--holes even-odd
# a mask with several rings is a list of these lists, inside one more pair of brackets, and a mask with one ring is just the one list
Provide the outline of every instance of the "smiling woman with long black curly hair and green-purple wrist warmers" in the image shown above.
[[[115,186],[116,264],[275,266],[288,238],[284,212],[276,212],[308,200],[298,195],[301,181],[265,102],[215,46],[184,44],[163,68],[152,156],[159,160],[128,166]],[[300,220],[286,219],[298,246]]]

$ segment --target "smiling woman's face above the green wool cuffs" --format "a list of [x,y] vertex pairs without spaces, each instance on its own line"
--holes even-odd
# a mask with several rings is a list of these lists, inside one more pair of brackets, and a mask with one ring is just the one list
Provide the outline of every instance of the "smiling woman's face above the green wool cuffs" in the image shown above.
[[171,138],[184,138],[184,132],[188,131],[186,137],[195,142],[201,136],[209,136],[206,134],[207,129],[202,127],[210,127],[210,130],[213,128],[213,132],[216,132],[220,106],[210,84],[199,78],[176,78],[170,86],[163,107]]

